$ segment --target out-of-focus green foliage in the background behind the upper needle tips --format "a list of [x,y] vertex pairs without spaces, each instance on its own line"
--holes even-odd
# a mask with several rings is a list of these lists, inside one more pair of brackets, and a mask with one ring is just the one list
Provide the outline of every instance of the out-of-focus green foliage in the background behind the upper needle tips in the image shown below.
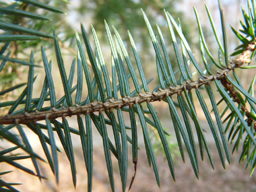
[[[76,42],[73,26],[75,24],[79,26],[79,23],[81,22],[86,28],[90,29],[90,24],[94,24],[94,28],[96,29],[100,43],[102,46],[104,46],[104,44],[108,44],[104,26],[104,20],[106,20],[110,26],[115,26],[115,28],[119,31],[119,34],[127,45],[127,50],[131,53],[132,51],[127,33],[127,30],[129,30],[136,42],[137,51],[141,56],[141,62],[154,64],[154,55],[150,54],[152,45],[150,42],[150,37],[147,35],[148,29],[146,28],[143,16],[141,15],[141,8],[146,12],[152,24],[158,23],[158,26],[160,26],[162,29],[163,34],[168,34],[168,27],[163,11],[163,9],[166,9],[166,11],[174,16],[174,18],[179,18],[182,21],[183,33],[188,40],[191,40],[189,37],[189,30],[191,30],[193,26],[191,26],[189,20],[183,20],[183,13],[181,11],[177,11],[177,9],[173,8],[177,6],[177,2],[177,0],[77,0],[70,1],[72,5],[63,3],[60,0],[48,0],[44,2],[63,10],[65,13],[67,13],[64,15],[47,11],[45,9],[37,9],[36,7],[26,3],[13,3],[12,5],[9,5],[9,2],[1,1],[0,7],[6,7],[7,5],[15,6],[16,9],[37,13],[38,15],[50,18],[51,20],[31,20],[29,18],[20,17],[19,15],[2,14],[0,22],[20,24],[20,26],[45,32],[46,34],[53,33],[53,28],[49,26],[53,26],[52,24],[54,23],[54,29],[57,32],[61,48],[67,49],[68,55],[75,56]],[[79,30],[79,28],[75,29]],[[156,30],[156,27],[154,30]],[[5,32],[0,32],[0,34],[3,33]],[[92,39],[91,30],[88,30],[88,35],[89,38]],[[10,57],[28,61],[31,49],[33,49],[34,54],[40,53],[41,45],[44,46],[45,50],[52,49],[53,43],[51,41],[51,39],[47,38],[41,38],[38,40],[13,41],[11,42],[11,46],[9,46],[9,50],[11,51]],[[2,44],[3,42],[1,45]],[[170,50],[172,49],[171,42],[166,42],[166,46],[169,46]],[[193,44],[191,44],[191,46],[193,46]],[[27,48],[29,48],[29,50]],[[175,58],[172,58],[171,56],[170,61],[175,61]],[[37,62],[40,62],[40,60],[36,59],[35,63]],[[110,63],[110,61],[106,61],[106,63]],[[19,65],[11,62],[8,62],[7,65],[9,65],[9,67],[5,67],[5,69],[2,71],[2,73],[5,73],[5,75],[1,75],[1,90],[13,86],[15,84],[14,82],[22,79],[22,74],[26,72],[24,71],[26,68],[20,68]],[[175,64],[173,67],[175,69]]]

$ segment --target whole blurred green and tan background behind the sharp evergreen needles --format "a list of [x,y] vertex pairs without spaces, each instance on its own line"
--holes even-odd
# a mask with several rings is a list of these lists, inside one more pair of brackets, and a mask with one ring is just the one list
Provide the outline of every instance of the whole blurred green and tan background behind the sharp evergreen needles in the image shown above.
[[[212,51],[214,57],[218,57],[218,49],[216,49],[216,42],[214,38],[214,34],[212,32],[212,28],[210,26],[210,22],[207,18],[207,13],[205,11],[205,5],[203,1],[200,0],[70,0],[71,4],[63,3],[59,0],[51,1],[50,5],[54,7],[58,7],[67,13],[67,15],[59,15],[50,12],[43,12],[42,14],[51,18],[52,21],[45,24],[38,24],[34,22],[26,23],[28,27],[31,28],[33,26],[38,26],[38,29],[52,33],[52,28],[49,26],[55,26],[55,30],[57,31],[61,51],[63,51],[63,60],[65,62],[65,67],[67,73],[69,73],[69,69],[71,67],[72,60],[76,57],[77,54],[77,46],[75,40],[75,32],[80,32],[80,24],[83,24],[86,32],[88,32],[89,39],[91,41],[92,46],[94,46],[94,40],[92,38],[92,30],[91,24],[94,26],[97,36],[100,40],[101,48],[104,53],[105,62],[110,69],[110,47],[108,45],[108,39],[106,36],[106,30],[104,26],[104,20],[108,23],[108,26],[115,26],[115,28],[119,31],[119,34],[123,38],[125,42],[125,46],[127,46],[127,51],[132,55],[131,45],[129,43],[129,37],[127,34],[127,30],[131,32],[135,44],[137,46],[137,51],[139,53],[139,57],[141,59],[141,63],[143,66],[144,73],[146,74],[146,79],[150,79],[154,77],[152,83],[149,84],[150,92],[158,86],[158,77],[156,74],[156,57],[154,53],[154,49],[152,46],[152,42],[150,41],[150,36],[148,34],[148,30],[146,28],[146,24],[143,20],[143,16],[141,14],[141,8],[146,12],[150,23],[152,24],[153,30],[157,34],[156,23],[160,26],[162,33],[164,35],[164,40],[166,42],[166,46],[168,47],[168,53],[170,57],[170,61],[172,63],[172,67],[174,71],[176,71],[179,67],[177,65],[177,61],[174,57],[174,51],[172,48],[172,41],[170,39],[170,34],[168,31],[168,26],[166,23],[166,19],[164,16],[163,9],[166,9],[175,20],[178,18],[181,20],[181,26],[185,37],[189,41],[189,45],[191,49],[197,57],[198,61],[201,62],[200,57],[200,49],[199,49],[199,32],[197,28],[197,23],[195,20],[195,14],[193,11],[193,5],[197,9],[199,13],[199,18],[201,25],[203,26],[203,33],[205,39],[207,41],[207,46]],[[4,1],[1,3],[5,3]],[[214,18],[214,22],[218,31],[219,36],[222,36],[221,24],[220,24],[220,13],[218,10],[218,1],[205,1],[207,6],[210,9],[212,17]],[[1,5],[1,4],[0,4]],[[238,39],[234,36],[232,31],[230,30],[229,25],[233,26],[236,30],[240,28],[239,21],[242,18],[241,14],[241,5],[243,7],[247,7],[247,1],[245,0],[222,0],[222,5],[224,8],[224,16],[226,20],[226,29],[228,34],[228,51],[231,54],[234,51],[234,48],[238,46]],[[26,9],[34,9],[32,6],[27,7]],[[38,10],[40,11],[40,10]],[[49,24],[49,25],[48,25]],[[113,30],[110,28],[112,34]],[[31,46],[33,46],[33,50],[35,52],[35,62],[39,65],[42,65],[41,56],[40,56],[40,46],[44,46],[46,49],[47,57],[52,59],[53,61],[53,73],[54,73],[54,81],[55,88],[57,89],[57,98],[61,98],[63,96],[63,88],[58,86],[61,84],[61,78],[59,75],[59,69],[57,69],[55,54],[53,51],[53,43],[51,41],[33,41],[31,44],[23,44],[22,42],[13,42],[11,45],[13,47],[13,51],[11,53],[12,57],[17,57],[19,59],[28,59],[31,51]],[[15,49],[14,49],[15,48]],[[94,47],[93,47],[94,49]],[[134,59],[131,58],[133,63]],[[135,67],[135,65],[133,65]],[[1,90],[4,90],[10,86],[17,84],[17,82],[26,82],[27,79],[27,67],[20,67],[16,64],[8,64],[8,67],[3,69],[5,71],[1,72]],[[111,71],[111,70],[110,70]],[[194,70],[195,71],[195,70]],[[214,71],[214,70],[212,70]],[[193,69],[192,69],[193,72]],[[237,71],[241,77],[242,83],[247,85],[251,82],[255,75],[255,71],[250,70],[240,70]],[[36,73],[38,73],[37,80],[35,82],[38,90],[34,88],[33,97],[40,96],[40,89],[42,88],[42,83],[44,79],[44,71],[42,69],[36,69]],[[91,73],[92,74],[92,73]],[[138,74],[138,73],[137,73]],[[179,73],[177,75],[179,77]],[[73,79],[73,84],[76,84],[76,77]],[[131,90],[133,91],[133,87],[131,86]],[[84,96],[82,99],[86,99],[87,90],[84,89]],[[22,92],[22,90],[20,90]],[[13,100],[19,94],[19,91],[16,91],[14,95],[6,96],[5,98],[1,98],[1,100]],[[207,98],[205,98],[205,101]],[[47,104],[47,103],[46,103]],[[195,104],[197,102],[195,101]],[[199,104],[198,104],[199,106]],[[196,177],[193,174],[193,169],[190,164],[190,160],[187,154],[185,154],[186,164],[183,164],[182,158],[179,154],[179,148],[177,148],[177,143],[175,139],[174,129],[172,127],[170,115],[168,113],[168,105],[164,102],[154,103],[154,107],[158,112],[158,116],[162,122],[162,125],[170,136],[168,137],[168,141],[170,142],[170,150],[172,153],[172,157],[174,158],[174,168],[176,172],[177,181],[174,183],[171,178],[170,171],[168,170],[168,164],[165,160],[164,155],[162,154],[162,148],[160,146],[160,142],[158,141],[157,133],[154,129],[149,127],[150,135],[152,137],[152,142],[154,145],[155,152],[157,154],[157,162],[158,168],[160,172],[160,189],[156,183],[156,179],[154,178],[154,171],[152,168],[148,166],[148,160],[146,158],[145,148],[143,148],[143,135],[141,129],[139,130],[139,157],[137,164],[137,175],[135,181],[133,183],[133,187],[131,191],[256,191],[256,177],[253,175],[249,177],[249,170],[245,172],[245,164],[238,164],[239,152],[238,154],[234,153],[232,156],[232,165],[226,164],[226,170],[222,168],[220,159],[218,157],[218,152],[216,150],[216,146],[214,143],[214,139],[212,137],[212,133],[210,131],[209,126],[205,120],[201,108],[198,107],[197,114],[199,115],[199,119],[201,120],[201,124],[203,125],[207,137],[207,141],[210,143],[210,148],[212,152],[212,157],[214,159],[215,170],[210,166],[209,160],[205,156],[205,162],[201,162],[199,160],[199,169],[200,169],[200,177],[199,181],[197,181]],[[2,110],[0,112],[4,114]],[[129,115],[124,113],[125,117]],[[76,120],[73,118],[68,118],[69,125],[74,129],[77,128]],[[125,124],[129,126],[129,121],[126,121]],[[139,126],[139,121],[137,122]],[[110,139],[114,142],[113,134],[108,127],[108,135]],[[194,130],[195,131],[195,130]],[[30,135],[30,142],[35,146],[34,149],[43,156],[42,149],[40,147],[40,142],[38,142],[38,138],[27,131],[28,135]],[[46,132],[45,132],[46,133]],[[128,133],[130,134],[130,133]],[[104,159],[104,152],[102,149],[102,138],[95,131],[94,135],[94,184],[93,191],[110,191],[110,184],[108,181],[108,173],[106,170],[106,162]],[[197,140],[197,139],[195,139]],[[38,179],[30,177],[30,175],[21,172],[20,170],[15,170],[13,173],[8,174],[11,178],[6,178],[5,181],[10,182],[18,182],[23,183],[23,185],[17,186],[17,189],[20,191],[86,191],[86,183],[87,183],[87,173],[86,167],[84,164],[84,157],[82,154],[82,148],[79,136],[72,136],[73,146],[75,148],[75,162],[77,166],[77,187],[76,190],[73,188],[73,184],[71,181],[71,171],[69,168],[69,161],[65,156],[65,153],[59,154],[60,161],[60,183],[59,186],[56,185],[53,174],[51,173],[51,169],[47,164],[40,162],[40,168],[42,170],[42,175],[47,177],[49,180],[42,181],[42,185]],[[2,142],[2,141],[0,141]],[[8,143],[5,143],[8,145]],[[59,143],[59,147],[61,144]],[[131,147],[131,146],[129,146]],[[128,176],[127,176],[127,185],[129,186],[129,181],[131,181],[131,177],[133,177],[133,164],[131,159],[131,148],[129,148],[129,164],[128,164]],[[230,145],[230,150],[232,150],[232,145]],[[112,157],[113,160],[113,169],[115,172],[115,187],[117,191],[121,191],[121,179],[119,176],[119,167],[117,160],[115,157]],[[33,169],[31,162],[26,160],[20,160],[23,164]],[[0,167],[0,171],[5,170],[14,170],[13,168]]]

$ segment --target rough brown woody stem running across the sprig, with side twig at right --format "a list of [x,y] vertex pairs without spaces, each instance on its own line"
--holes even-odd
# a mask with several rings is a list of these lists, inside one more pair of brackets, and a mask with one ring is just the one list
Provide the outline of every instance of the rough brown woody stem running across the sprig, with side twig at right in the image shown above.
[[[170,87],[168,90],[161,90],[159,89],[158,92],[152,92],[148,93],[146,95],[139,94],[137,97],[127,97],[122,98],[121,100],[112,100],[110,99],[108,102],[102,103],[102,102],[92,102],[91,104],[86,104],[84,106],[79,106],[76,104],[75,106],[69,106],[68,108],[61,108],[56,109],[52,108],[52,110],[47,111],[36,111],[33,113],[24,113],[20,115],[5,115],[0,117],[0,124],[3,125],[10,125],[15,122],[21,123],[21,124],[27,124],[30,122],[36,123],[36,121],[44,120],[44,119],[57,119],[58,117],[62,117],[63,114],[67,113],[68,116],[73,115],[80,115],[80,114],[86,114],[86,113],[95,113],[95,112],[102,112],[103,110],[113,110],[113,108],[122,108],[124,106],[132,106],[133,104],[142,102],[154,102],[154,101],[160,101],[163,98],[166,98],[166,96],[172,96],[174,94],[178,94],[180,92],[183,92],[184,90],[192,90],[193,88],[198,88],[200,86],[203,86],[204,84],[210,84],[210,82],[214,81],[215,79],[220,79],[222,84],[226,88],[232,88],[230,86],[230,83],[225,81],[225,76],[228,72],[232,71],[235,68],[240,67],[244,63],[250,63],[251,60],[249,59],[252,51],[254,51],[255,43],[249,44],[247,46],[247,49],[239,55],[236,59],[233,59],[232,62],[230,62],[230,65],[223,69],[222,71],[218,71],[214,75],[210,75],[209,77],[204,77],[204,79],[199,79],[196,82],[187,82],[185,85],[181,86],[174,86]],[[238,102],[238,99],[236,99],[235,92],[230,90],[230,93],[232,93],[232,97],[236,102]],[[248,115],[249,111],[245,109],[246,114]],[[249,117],[248,117],[249,118]],[[250,120],[253,122],[253,120]]]

